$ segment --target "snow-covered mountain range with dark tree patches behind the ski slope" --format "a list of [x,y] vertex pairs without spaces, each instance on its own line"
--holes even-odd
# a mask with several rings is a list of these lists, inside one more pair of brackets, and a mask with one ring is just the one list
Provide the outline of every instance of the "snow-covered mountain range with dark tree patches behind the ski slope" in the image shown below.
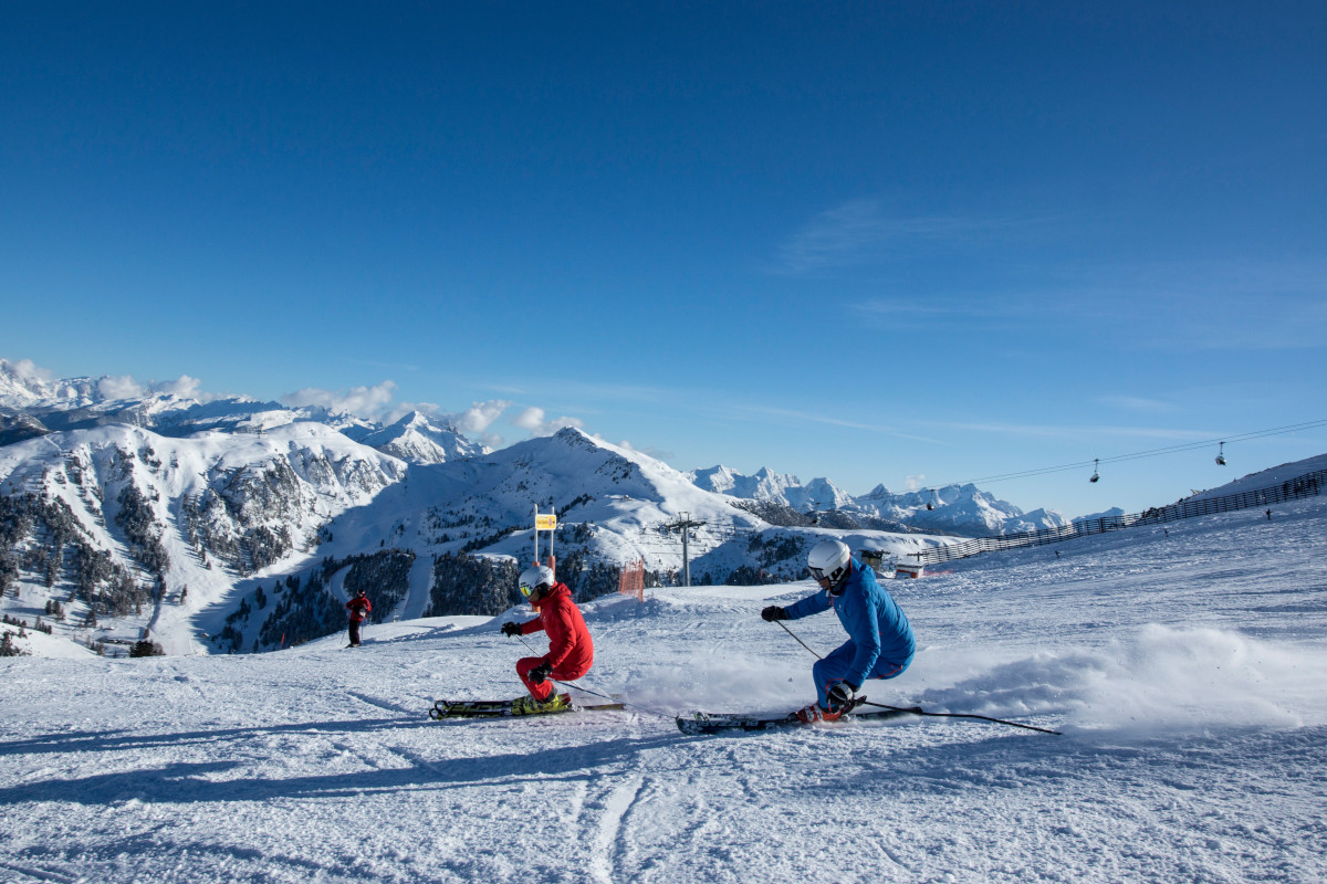
[[683,473],[572,428],[495,452],[419,412],[382,425],[187,378],[143,390],[0,360],[0,604],[175,652],[326,635],[358,586],[376,619],[504,610],[536,506],[559,517],[559,578],[580,598],[628,562],[654,583],[776,582],[827,533],[888,557],[1066,524],[973,485],[853,497],[768,469]]

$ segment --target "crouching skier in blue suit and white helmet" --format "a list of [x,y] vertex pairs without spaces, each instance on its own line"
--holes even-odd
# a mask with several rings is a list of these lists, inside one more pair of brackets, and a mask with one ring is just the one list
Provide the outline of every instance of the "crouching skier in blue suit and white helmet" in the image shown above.
[[852,558],[845,543],[820,541],[807,555],[807,566],[820,591],[788,607],[771,604],[760,616],[770,623],[798,620],[832,607],[848,631],[848,640],[811,668],[817,702],[794,713],[809,724],[835,721],[851,709],[867,679],[901,675],[917,643],[908,616],[876,580],[874,571]]

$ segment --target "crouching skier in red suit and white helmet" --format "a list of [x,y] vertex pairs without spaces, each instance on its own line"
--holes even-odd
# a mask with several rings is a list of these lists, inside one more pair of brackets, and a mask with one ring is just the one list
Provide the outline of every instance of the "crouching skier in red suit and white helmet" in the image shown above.
[[522,571],[520,594],[529,599],[539,616],[525,623],[503,623],[502,634],[529,635],[543,630],[548,634],[548,653],[516,661],[516,675],[529,691],[528,697],[516,701],[518,712],[561,709],[571,698],[557,693],[548,680],[572,681],[589,672],[594,643],[585,628],[585,618],[572,602],[572,591],[556,580],[553,569],[533,565]]

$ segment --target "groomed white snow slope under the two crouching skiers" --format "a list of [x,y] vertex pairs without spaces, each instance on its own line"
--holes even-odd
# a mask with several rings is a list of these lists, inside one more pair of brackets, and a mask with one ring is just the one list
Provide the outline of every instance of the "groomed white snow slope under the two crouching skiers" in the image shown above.
[[[8,657],[0,880],[1322,881],[1327,500],[1275,510],[886,583],[920,649],[871,698],[1063,736],[678,733],[812,698],[811,655],[759,618],[807,583],[584,606],[583,684],[628,712],[430,721],[434,698],[520,693],[528,649],[479,618],[358,649]],[[832,614],[790,627],[820,653],[844,637]]]

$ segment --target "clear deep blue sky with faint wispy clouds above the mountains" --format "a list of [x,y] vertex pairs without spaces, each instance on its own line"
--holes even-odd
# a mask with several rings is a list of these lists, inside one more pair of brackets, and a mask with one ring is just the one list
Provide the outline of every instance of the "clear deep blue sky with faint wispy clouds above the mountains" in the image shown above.
[[[1327,419],[1327,7],[1070,5],[4,4],[0,357],[852,493]],[[987,490],[1327,429],[1212,448]]]

